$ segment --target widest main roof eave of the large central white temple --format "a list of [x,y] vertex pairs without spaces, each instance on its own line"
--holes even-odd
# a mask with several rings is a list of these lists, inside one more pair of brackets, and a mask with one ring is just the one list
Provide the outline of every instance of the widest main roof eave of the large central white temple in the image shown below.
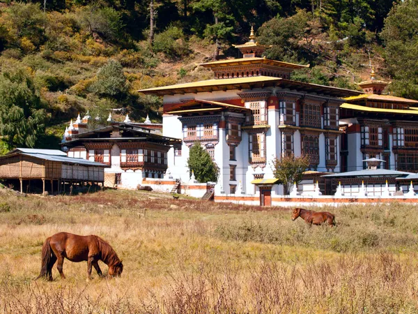
[[357,96],[364,94],[362,91],[353,91],[352,89],[340,89],[337,87],[328,87],[319,84],[310,84],[286,80],[281,77],[253,76],[238,77],[223,80],[205,80],[192,83],[182,83],[169,85],[166,87],[154,87],[151,89],[141,89],[140,93],[148,95],[175,95],[175,94],[197,94],[213,91],[228,91],[242,89],[263,89],[265,87],[280,87],[282,89],[295,89],[302,93],[316,93],[334,97]]

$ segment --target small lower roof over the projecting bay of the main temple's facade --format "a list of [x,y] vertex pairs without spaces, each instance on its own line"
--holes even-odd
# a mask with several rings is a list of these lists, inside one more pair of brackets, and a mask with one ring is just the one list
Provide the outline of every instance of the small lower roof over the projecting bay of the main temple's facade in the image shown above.
[[230,112],[247,112],[249,108],[231,105],[229,103],[222,103],[211,100],[189,100],[187,103],[181,103],[171,107],[167,114],[200,114],[203,112],[215,112],[227,110]]

